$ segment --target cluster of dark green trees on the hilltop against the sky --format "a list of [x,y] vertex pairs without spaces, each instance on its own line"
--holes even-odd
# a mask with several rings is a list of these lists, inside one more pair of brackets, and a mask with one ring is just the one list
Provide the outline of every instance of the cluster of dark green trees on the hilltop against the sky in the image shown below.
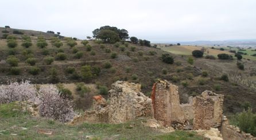
[[[129,40],[133,44],[139,44],[141,46],[151,46],[148,40],[139,40],[137,37],[129,37],[128,31],[126,29],[118,29],[114,26],[102,26],[98,29],[92,31],[94,38],[100,39],[103,42],[108,42],[114,44],[118,41]],[[87,37],[88,38],[88,37]],[[88,38],[89,40],[91,38]]]

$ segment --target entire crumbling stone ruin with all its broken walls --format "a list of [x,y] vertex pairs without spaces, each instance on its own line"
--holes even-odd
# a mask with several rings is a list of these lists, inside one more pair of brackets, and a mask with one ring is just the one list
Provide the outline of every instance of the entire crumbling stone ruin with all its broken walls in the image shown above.
[[[109,97],[94,96],[93,110],[77,116],[71,124],[79,122],[124,123],[148,116],[154,126],[180,130],[221,130],[223,139],[255,139],[228,125],[223,116],[224,95],[204,91],[180,104],[178,87],[166,80],[158,80],[152,88],[151,99],[141,92],[141,85],[117,81],[108,91]],[[208,135],[208,134],[207,134]],[[222,139],[220,138],[220,139]]]

